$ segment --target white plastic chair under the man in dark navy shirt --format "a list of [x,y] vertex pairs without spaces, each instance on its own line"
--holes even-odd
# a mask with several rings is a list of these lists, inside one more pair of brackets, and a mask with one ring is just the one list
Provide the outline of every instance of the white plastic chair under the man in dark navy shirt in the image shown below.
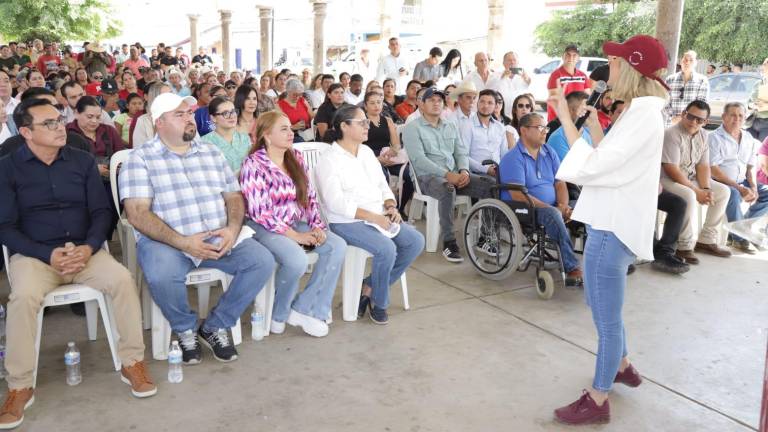
[[[104,244],[106,248],[106,243]],[[5,262],[5,271],[8,276],[8,282],[11,282],[11,267],[9,266],[10,258],[8,256],[8,248],[3,246],[3,261]],[[11,288],[13,290],[13,288]],[[117,346],[115,341],[119,340],[117,334],[117,325],[112,312],[112,304],[109,296],[105,296],[99,290],[91,288],[82,284],[66,284],[61,285],[55,290],[46,294],[43,298],[43,304],[40,311],[37,313],[37,334],[35,336],[35,371],[32,380],[32,387],[37,385],[37,366],[40,360],[40,341],[42,340],[41,334],[43,332],[43,315],[44,310],[50,306],[63,306],[72,303],[85,303],[85,316],[88,325],[88,339],[96,340],[98,330],[98,311],[101,311],[101,320],[104,325],[104,330],[107,333],[107,342],[109,343],[109,350],[112,353],[112,362],[115,365],[115,370],[119,371],[121,367],[120,357],[117,355]],[[98,309],[98,310],[97,310]]]

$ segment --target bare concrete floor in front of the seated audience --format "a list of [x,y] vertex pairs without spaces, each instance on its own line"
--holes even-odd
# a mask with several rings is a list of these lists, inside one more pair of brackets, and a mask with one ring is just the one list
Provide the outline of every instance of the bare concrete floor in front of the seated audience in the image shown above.
[[[119,248],[113,248],[119,250]],[[683,276],[640,266],[625,304],[630,355],[645,377],[611,396],[612,423],[580,430],[756,430],[766,347],[768,253],[701,256]],[[0,299],[8,292],[0,275]],[[293,328],[247,340],[231,364],[185,367],[136,400],[111,367],[106,339],[88,342],[68,309],[43,323],[35,404],[24,431],[559,431],[552,409],[590,385],[596,337],[581,290],[539,300],[530,274],[504,282],[423,254],[408,272],[411,307],[392,290],[388,326],[341,321],[331,333]],[[246,324],[244,334],[249,335]],[[150,332],[145,342],[150,346]],[[66,341],[82,351],[83,382],[67,387]],[[147,358],[151,358],[149,349]]]

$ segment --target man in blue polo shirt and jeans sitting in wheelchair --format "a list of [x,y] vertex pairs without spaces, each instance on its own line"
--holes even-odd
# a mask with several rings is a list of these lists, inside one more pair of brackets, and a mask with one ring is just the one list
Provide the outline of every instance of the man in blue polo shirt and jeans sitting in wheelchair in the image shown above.
[[[568,202],[565,182],[555,178],[560,158],[545,144],[546,137],[546,121],[539,114],[530,113],[520,119],[520,142],[504,155],[499,164],[500,199],[533,204],[536,208],[535,223],[543,225],[547,237],[560,246],[566,280],[580,284],[582,272],[579,260],[565,226],[573,209]],[[527,194],[505,188],[504,184],[522,185]]]

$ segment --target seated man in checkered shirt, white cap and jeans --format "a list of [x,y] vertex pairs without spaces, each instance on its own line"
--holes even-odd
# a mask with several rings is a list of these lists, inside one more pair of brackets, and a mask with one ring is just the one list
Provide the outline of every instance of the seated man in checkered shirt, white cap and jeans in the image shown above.
[[[173,93],[155,99],[157,134],[131,153],[118,182],[152,299],[178,334],[187,364],[200,362],[199,343],[219,361],[237,359],[227,328],[253,303],[275,267],[264,246],[240,236],[245,214],[240,187],[221,152],[195,139],[196,103]],[[185,284],[196,267],[233,277],[199,327]]]

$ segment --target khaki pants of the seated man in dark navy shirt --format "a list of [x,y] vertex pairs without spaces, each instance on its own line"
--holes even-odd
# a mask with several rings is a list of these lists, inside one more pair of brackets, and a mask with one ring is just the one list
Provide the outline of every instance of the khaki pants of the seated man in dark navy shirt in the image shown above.
[[100,250],[77,274],[61,276],[53,267],[20,254],[11,257],[11,295],[8,301],[7,348],[5,367],[8,388],[32,387],[35,370],[37,313],[46,294],[60,285],[88,285],[112,297],[120,340],[118,355],[124,366],[144,359],[141,309],[136,285],[128,270],[108,252]]

